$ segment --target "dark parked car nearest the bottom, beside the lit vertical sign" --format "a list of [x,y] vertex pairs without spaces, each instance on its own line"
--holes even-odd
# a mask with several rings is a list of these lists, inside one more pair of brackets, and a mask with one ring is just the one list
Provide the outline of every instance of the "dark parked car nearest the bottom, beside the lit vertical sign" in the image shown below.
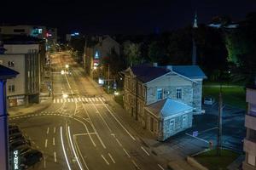
[[39,150],[29,150],[20,154],[20,167],[21,169],[27,169],[34,166],[39,161],[42,161],[43,154]]

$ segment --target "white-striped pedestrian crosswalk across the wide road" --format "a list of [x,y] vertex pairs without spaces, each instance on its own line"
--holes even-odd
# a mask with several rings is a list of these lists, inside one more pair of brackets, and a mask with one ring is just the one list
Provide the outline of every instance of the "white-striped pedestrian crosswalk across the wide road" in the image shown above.
[[106,99],[103,97],[93,97],[93,98],[87,98],[87,97],[80,97],[80,98],[67,98],[67,99],[54,99],[54,104],[61,104],[61,103],[72,103],[72,102],[104,102]]

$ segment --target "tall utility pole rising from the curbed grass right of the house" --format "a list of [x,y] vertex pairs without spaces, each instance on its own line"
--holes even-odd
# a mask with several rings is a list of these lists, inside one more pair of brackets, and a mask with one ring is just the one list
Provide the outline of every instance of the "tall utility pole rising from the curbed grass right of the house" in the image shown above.
[[218,145],[217,145],[217,155],[221,155],[222,148],[222,111],[223,111],[223,100],[222,100],[222,89],[221,85],[219,87],[219,96],[218,96]]

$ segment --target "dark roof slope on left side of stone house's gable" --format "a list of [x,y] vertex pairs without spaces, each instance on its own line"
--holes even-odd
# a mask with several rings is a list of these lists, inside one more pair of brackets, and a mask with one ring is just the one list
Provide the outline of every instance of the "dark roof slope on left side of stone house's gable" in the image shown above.
[[131,67],[131,71],[142,82],[149,82],[170,72],[169,69],[154,67],[147,64]]

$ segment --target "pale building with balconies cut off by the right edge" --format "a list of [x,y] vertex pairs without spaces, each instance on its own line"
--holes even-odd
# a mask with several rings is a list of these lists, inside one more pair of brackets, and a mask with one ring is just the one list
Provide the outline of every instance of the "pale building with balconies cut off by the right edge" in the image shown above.
[[245,127],[247,136],[244,139],[243,150],[246,159],[243,161],[242,169],[256,170],[256,85],[247,88],[248,111],[245,116]]

